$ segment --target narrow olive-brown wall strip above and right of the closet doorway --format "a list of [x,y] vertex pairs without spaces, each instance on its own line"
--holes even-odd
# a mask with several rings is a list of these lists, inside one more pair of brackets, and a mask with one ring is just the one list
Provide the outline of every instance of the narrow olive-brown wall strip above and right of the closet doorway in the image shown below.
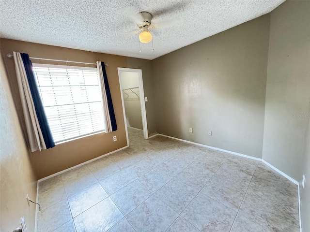
[[145,102],[147,130],[149,136],[156,134],[156,116],[155,116],[155,97],[153,85],[152,60],[127,58],[127,67],[132,69],[142,69],[144,96],[148,98]]

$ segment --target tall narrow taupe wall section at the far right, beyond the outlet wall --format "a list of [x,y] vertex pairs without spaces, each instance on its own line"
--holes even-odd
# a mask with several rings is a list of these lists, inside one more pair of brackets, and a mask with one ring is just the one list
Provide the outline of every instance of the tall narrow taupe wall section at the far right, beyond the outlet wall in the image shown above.
[[310,109],[310,1],[271,13],[263,159],[300,180]]

